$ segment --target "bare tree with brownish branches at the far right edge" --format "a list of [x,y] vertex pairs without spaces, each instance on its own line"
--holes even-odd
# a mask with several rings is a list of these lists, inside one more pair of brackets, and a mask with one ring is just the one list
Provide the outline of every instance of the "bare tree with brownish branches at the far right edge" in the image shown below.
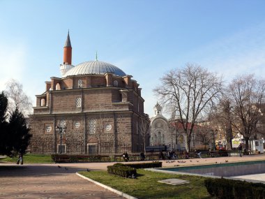
[[236,133],[248,140],[257,132],[257,123],[262,118],[262,98],[264,98],[265,80],[257,80],[254,75],[242,75],[232,80],[228,87],[228,96],[232,105],[232,127]]

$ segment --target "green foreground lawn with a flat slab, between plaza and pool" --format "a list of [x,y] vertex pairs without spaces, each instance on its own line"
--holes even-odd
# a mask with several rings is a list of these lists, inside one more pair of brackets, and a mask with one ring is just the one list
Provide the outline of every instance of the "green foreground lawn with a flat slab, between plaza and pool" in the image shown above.
[[[204,186],[204,177],[173,175],[137,169],[137,179],[110,175],[107,171],[79,172],[97,182],[127,193],[136,198],[211,198]],[[177,178],[190,181],[189,184],[170,185],[158,182],[161,179]]]

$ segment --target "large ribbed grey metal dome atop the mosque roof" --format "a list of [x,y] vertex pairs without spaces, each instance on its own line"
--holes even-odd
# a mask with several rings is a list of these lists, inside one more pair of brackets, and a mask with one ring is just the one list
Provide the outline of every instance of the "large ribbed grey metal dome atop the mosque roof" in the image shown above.
[[121,77],[126,76],[126,73],[124,73],[120,68],[112,64],[108,64],[103,61],[86,61],[81,64],[78,64],[74,68],[71,68],[69,71],[63,74],[63,78],[73,75],[89,75],[89,74],[104,75],[105,73],[114,73],[114,75]]

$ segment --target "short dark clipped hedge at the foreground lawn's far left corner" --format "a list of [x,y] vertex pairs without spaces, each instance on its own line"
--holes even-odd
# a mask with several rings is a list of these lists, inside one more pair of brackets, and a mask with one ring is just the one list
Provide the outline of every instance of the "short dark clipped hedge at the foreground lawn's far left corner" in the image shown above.
[[136,177],[137,172],[135,168],[130,168],[122,163],[116,163],[114,165],[107,166],[107,172],[109,174],[119,175],[121,177],[130,177],[134,175]]

